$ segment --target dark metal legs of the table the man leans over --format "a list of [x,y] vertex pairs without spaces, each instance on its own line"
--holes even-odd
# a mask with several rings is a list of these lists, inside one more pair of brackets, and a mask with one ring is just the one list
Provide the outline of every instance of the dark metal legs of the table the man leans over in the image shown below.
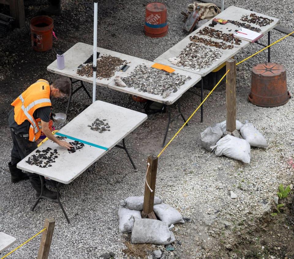
[[[127,156],[129,157],[129,159],[130,159],[130,161],[131,161],[131,163],[132,163],[134,169],[136,170],[137,168],[136,168],[136,166],[135,166],[135,164],[134,164],[134,161],[133,161],[132,157],[130,156],[130,154],[129,154],[127,148],[126,148],[125,138],[123,138],[123,146],[115,145],[115,147],[118,147],[118,148],[120,148],[120,149],[124,149],[124,150],[126,151]],[[58,182],[57,187],[56,187],[56,188],[57,188],[57,200],[53,200],[53,199],[50,199],[50,198],[47,198],[47,197],[43,196],[43,191],[44,191],[44,180],[43,180],[43,176],[39,175],[39,177],[40,177],[40,180],[41,180],[41,194],[40,194],[40,196],[38,197],[38,199],[36,200],[36,202],[35,202],[35,204],[34,204],[34,206],[32,207],[31,210],[33,211],[33,210],[36,208],[36,206],[37,206],[37,204],[40,202],[40,199],[41,199],[41,198],[44,199],[44,200],[47,200],[47,201],[49,201],[49,202],[57,203],[57,204],[59,204],[59,206],[61,207],[62,212],[63,212],[64,216],[66,217],[66,220],[67,220],[68,224],[70,224],[70,220],[69,220],[69,218],[68,218],[68,216],[67,216],[67,214],[66,214],[66,212],[65,212],[65,209],[63,208],[63,205],[62,205],[62,203],[61,203],[61,201],[60,201],[59,188],[60,188],[61,183]]]

